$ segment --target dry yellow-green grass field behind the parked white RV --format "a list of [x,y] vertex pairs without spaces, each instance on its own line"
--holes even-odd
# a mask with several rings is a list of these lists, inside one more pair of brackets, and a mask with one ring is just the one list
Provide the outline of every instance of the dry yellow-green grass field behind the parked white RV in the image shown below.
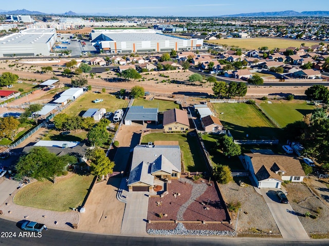
[[[93,103],[92,100],[95,100],[97,98],[104,100],[98,104]],[[65,109],[63,113],[66,113],[68,115],[82,115],[86,110],[90,108],[105,108],[107,112],[114,112],[117,109],[125,108],[127,105],[127,100],[118,99],[108,93],[98,94],[94,92],[87,92],[84,95],[80,96],[67,109]]]

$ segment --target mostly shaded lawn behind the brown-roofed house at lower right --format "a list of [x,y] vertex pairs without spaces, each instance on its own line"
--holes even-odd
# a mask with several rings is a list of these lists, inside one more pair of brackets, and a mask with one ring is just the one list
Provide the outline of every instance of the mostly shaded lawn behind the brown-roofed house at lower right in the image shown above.
[[218,138],[219,138],[219,135],[215,135],[215,134],[203,134],[202,135],[202,139],[203,139],[205,147],[210,155],[212,164],[214,166],[219,165],[219,164],[227,165],[231,168],[231,170],[243,170],[244,168],[242,166],[242,163],[241,163],[239,157],[234,156],[234,157],[228,158],[227,156],[225,156],[219,152],[212,151]]

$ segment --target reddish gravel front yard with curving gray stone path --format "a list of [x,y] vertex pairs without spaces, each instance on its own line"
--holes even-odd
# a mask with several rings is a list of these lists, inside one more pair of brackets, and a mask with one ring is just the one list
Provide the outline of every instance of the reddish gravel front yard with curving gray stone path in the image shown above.
[[[186,182],[184,181],[186,180]],[[185,221],[228,221],[229,218],[223,209],[224,201],[218,197],[213,182],[199,179],[172,180],[168,184],[169,194],[164,197],[150,197],[148,208],[149,220],[185,220]],[[205,188],[205,190],[204,190]],[[202,191],[200,191],[202,190]],[[175,197],[174,193],[180,195]],[[199,194],[202,193],[200,196]],[[189,202],[191,200],[191,202]],[[157,205],[161,202],[161,206]],[[187,206],[187,207],[186,207]],[[208,208],[208,209],[205,209]],[[159,217],[159,214],[167,217]],[[209,223],[184,223],[189,230],[232,230],[229,224]],[[170,230],[176,227],[175,223],[148,223],[148,229]]]

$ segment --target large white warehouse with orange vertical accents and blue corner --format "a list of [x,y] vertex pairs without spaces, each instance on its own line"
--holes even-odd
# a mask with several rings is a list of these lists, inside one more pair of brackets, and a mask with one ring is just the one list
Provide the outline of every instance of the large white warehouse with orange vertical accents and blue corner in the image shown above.
[[92,30],[92,45],[103,53],[202,49],[203,38],[180,38],[153,29]]

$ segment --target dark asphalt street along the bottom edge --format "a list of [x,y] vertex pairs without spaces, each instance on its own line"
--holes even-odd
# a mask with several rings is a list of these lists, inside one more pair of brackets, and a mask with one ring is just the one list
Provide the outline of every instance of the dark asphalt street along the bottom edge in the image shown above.
[[[16,233],[16,237],[6,237],[4,232]],[[328,245],[328,239],[284,240],[282,238],[227,238],[227,237],[131,237],[75,233],[49,229],[42,233],[41,238],[20,237],[22,232],[16,222],[0,219],[0,245],[4,246],[93,246],[93,245],[126,245],[126,246],[277,246],[277,245]],[[4,235],[4,236],[2,236]]]

